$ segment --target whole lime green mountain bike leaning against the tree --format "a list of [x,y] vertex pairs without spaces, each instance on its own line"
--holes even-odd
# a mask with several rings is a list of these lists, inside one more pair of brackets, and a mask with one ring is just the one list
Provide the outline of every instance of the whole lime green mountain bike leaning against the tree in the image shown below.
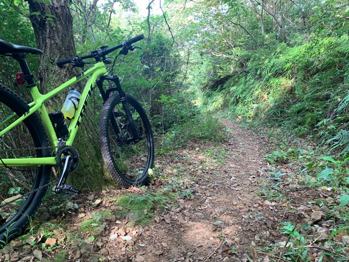
[[[19,62],[22,73],[18,83],[26,82],[32,95],[29,104],[12,90],[0,85],[0,245],[7,244],[28,223],[37,211],[48,187],[55,185],[58,194],[79,194],[65,181],[79,162],[72,147],[79,124],[95,86],[104,105],[99,118],[99,141],[103,160],[111,176],[121,186],[143,185],[154,161],[154,139],[148,117],[141,104],[126,94],[116,75],[109,75],[117,57],[134,50],[132,44],[143,34],[120,45],[101,47],[85,56],[58,61],[57,65],[72,63],[87,70],[47,94],[41,94],[26,62],[28,54],[42,54],[39,49],[14,45],[0,39],[0,55]],[[114,58],[106,55],[121,49]],[[93,63],[85,59],[95,59]],[[85,80],[75,114],[66,125],[62,112],[48,113],[45,102],[70,86]],[[106,85],[107,83],[107,85]],[[108,86],[108,88],[105,88]],[[60,167],[59,179],[51,179],[52,166]]]

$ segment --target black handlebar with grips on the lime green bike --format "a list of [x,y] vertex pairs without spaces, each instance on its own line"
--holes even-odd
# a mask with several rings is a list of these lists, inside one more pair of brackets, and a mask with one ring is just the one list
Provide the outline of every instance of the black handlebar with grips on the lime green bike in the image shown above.
[[95,58],[96,61],[100,61],[101,57],[106,56],[107,54],[111,53],[112,51],[115,51],[116,49],[120,49],[120,48],[126,48],[127,50],[129,48],[131,48],[131,45],[133,43],[136,43],[140,40],[142,40],[144,38],[143,34],[137,35],[135,37],[132,37],[128,40],[126,40],[125,42],[115,46],[115,47],[111,47],[111,48],[107,48],[104,47],[101,50],[96,50],[96,51],[92,51],[91,54],[89,55],[84,55],[84,56],[76,56],[76,57],[72,57],[72,58],[67,58],[67,59],[63,59],[63,60],[59,60],[56,62],[57,66],[63,66],[65,64],[69,64],[74,62],[74,60],[83,60],[83,59],[87,59],[87,58]]

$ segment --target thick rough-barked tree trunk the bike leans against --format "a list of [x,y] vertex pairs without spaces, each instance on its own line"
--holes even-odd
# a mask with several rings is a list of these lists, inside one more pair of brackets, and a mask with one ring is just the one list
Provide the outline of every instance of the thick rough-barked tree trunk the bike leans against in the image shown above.
[[[31,14],[40,12],[40,15],[31,15],[30,19],[38,48],[43,51],[38,78],[41,91],[46,93],[77,74],[77,71],[71,70],[71,66],[59,68],[55,64],[58,60],[76,55],[72,32],[73,17],[69,10],[69,0],[51,0],[50,5],[43,1],[27,1]],[[49,110],[60,110],[65,95],[66,92],[63,92],[51,102],[48,105]],[[77,171],[68,177],[79,189],[94,190],[109,184],[109,176],[103,168],[97,130],[93,110],[88,108],[74,144],[79,152],[80,164]]]

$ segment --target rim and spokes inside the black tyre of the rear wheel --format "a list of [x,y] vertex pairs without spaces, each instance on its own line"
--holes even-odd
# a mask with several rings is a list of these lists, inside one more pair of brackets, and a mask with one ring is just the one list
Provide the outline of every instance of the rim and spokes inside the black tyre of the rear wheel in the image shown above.
[[[0,131],[18,118],[16,113],[0,102]],[[42,150],[38,148],[41,147],[40,140],[35,135],[29,119],[0,138],[1,159],[42,157]],[[10,227],[11,230],[23,227],[14,222],[23,214],[28,216],[32,214],[27,210],[37,193],[42,171],[43,167],[35,166],[0,167],[0,233],[4,233],[4,230],[9,231]],[[28,217],[26,219],[28,220]]]

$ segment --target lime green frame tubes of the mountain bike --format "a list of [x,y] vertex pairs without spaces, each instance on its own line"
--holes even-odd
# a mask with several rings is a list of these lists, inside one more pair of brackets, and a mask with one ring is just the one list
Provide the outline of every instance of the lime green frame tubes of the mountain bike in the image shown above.
[[[81,72],[78,76],[73,77],[72,79],[68,80],[67,82],[64,82],[60,86],[56,87],[52,91],[48,92],[45,95],[42,95],[39,92],[38,87],[35,85],[30,88],[30,92],[32,94],[33,101],[29,104],[29,111],[26,112],[24,115],[20,116],[16,121],[14,121],[12,124],[10,124],[8,127],[6,127],[4,130],[0,131],[0,137],[6,134],[7,132],[11,131],[14,127],[16,127],[19,123],[21,123],[24,119],[28,118],[30,115],[32,115],[35,112],[38,112],[41,118],[41,121],[45,127],[45,130],[48,133],[48,138],[50,141],[51,146],[54,148],[54,150],[57,150],[58,146],[58,138],[56,135],[56,132],[53,129],[53,125],[49,119],[48,112],[45,107],[45,102],[47,102],[50,98],[53,98],[58,93],[62,92],[63,90],[69,88],[70,86],[82,81],[85,78],[89,78],[81,92],[80,102],[78,105],[78,108],[75,112],[74,117],[70,120],[70,123],[68,125],[68,137],[65,142],[66,146],[71,146],[74,142],[75,136],[77,134],[77,131],[79,129],[79,124],[81,123],[82,116],[85,112],[85,108],[87,106],[87,103],[91,97],[92,91],[95,88],[96,80],[103,76],[107,75],[106,66],[103,62],[96,63],[93,67],[88,69],[86,72]],[[18,115],[19,116],[19,115]],[[0,127],[7,124],[12,118],[15,118],[15,115],[10,116],[8,119],[4,120]],[[57,159],[56,157],[42,157],[42,158],[2,158],[2,162],[0,162],[0,167],[6,166],[35,166],[35,165],[56,165]]]

